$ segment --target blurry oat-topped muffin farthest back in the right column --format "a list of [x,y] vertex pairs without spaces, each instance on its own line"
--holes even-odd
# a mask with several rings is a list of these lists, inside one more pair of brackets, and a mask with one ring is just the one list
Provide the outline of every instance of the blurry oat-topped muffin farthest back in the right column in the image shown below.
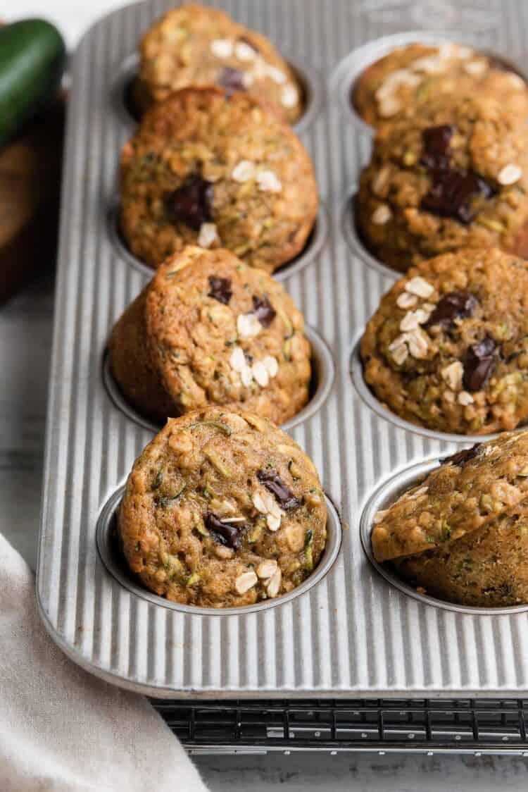
[[408,44],[368,67],[355,83],[352,101],[373,127],[422,112],[425,102],[442,97],[484,96],[528,119],[528,86],[508,67],[470,47]]

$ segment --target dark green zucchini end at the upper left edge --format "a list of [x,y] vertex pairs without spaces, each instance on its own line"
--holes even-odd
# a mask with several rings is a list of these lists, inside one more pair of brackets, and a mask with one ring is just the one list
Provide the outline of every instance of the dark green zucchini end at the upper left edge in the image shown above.
[[0,145],[55,95],[65,63],[63,37],[49,22],[0,28]]

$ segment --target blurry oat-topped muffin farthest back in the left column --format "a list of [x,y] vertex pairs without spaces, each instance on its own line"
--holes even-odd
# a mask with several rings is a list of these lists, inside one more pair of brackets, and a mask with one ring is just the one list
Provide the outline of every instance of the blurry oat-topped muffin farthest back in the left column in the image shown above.
[[144,109],[189,86],[247,91],[274,105],[293,124],[302,90],[268,39],[215,8],[174,8],[142,37],[139,96]]

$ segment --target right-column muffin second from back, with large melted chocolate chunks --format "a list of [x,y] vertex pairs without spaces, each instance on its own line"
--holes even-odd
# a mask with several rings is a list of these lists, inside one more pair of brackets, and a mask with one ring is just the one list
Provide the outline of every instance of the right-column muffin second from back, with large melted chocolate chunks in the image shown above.
[[401,272],[465,246],[528,257],[527,190],[526,124],[489,99],[434,101],[378,131],[356,220],[367,247]]

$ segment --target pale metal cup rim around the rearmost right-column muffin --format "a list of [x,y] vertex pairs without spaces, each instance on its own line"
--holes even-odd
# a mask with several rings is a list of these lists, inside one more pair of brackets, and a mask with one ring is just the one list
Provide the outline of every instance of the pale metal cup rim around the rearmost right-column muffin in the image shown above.
[[374,39],[373,41],[363,44],[363,46],[352,50],[336,67],[332,74],[331,86],[332,94],[336,98],[341,111],[344,115],[351,120],[355,128],[363,133],[373,137],[375,129],[363,120],[354,106],[354,89],[355,82],[363,74],[369,66],[377,60],[388,55],[389,52],[399,47],[405,47],[406,44],[425,44],[435,45],[443,44],[443,42],[452,42],[453,44],[462,44],[468,47],[473,47],[477,52],[482,55],[488,55],[503,63],[510,68],[515,74],[519,74],[526,82],[526,72],[523,68],[511,59],[504,58],[503,55],[488,48],[481,48],[478,45],[477,38],[468,36],[467,32],[457,33],[450,31],[437,31],[437,30],[416,30],[405,33],[393,33],[391,36],[382,36],[381,38]]

